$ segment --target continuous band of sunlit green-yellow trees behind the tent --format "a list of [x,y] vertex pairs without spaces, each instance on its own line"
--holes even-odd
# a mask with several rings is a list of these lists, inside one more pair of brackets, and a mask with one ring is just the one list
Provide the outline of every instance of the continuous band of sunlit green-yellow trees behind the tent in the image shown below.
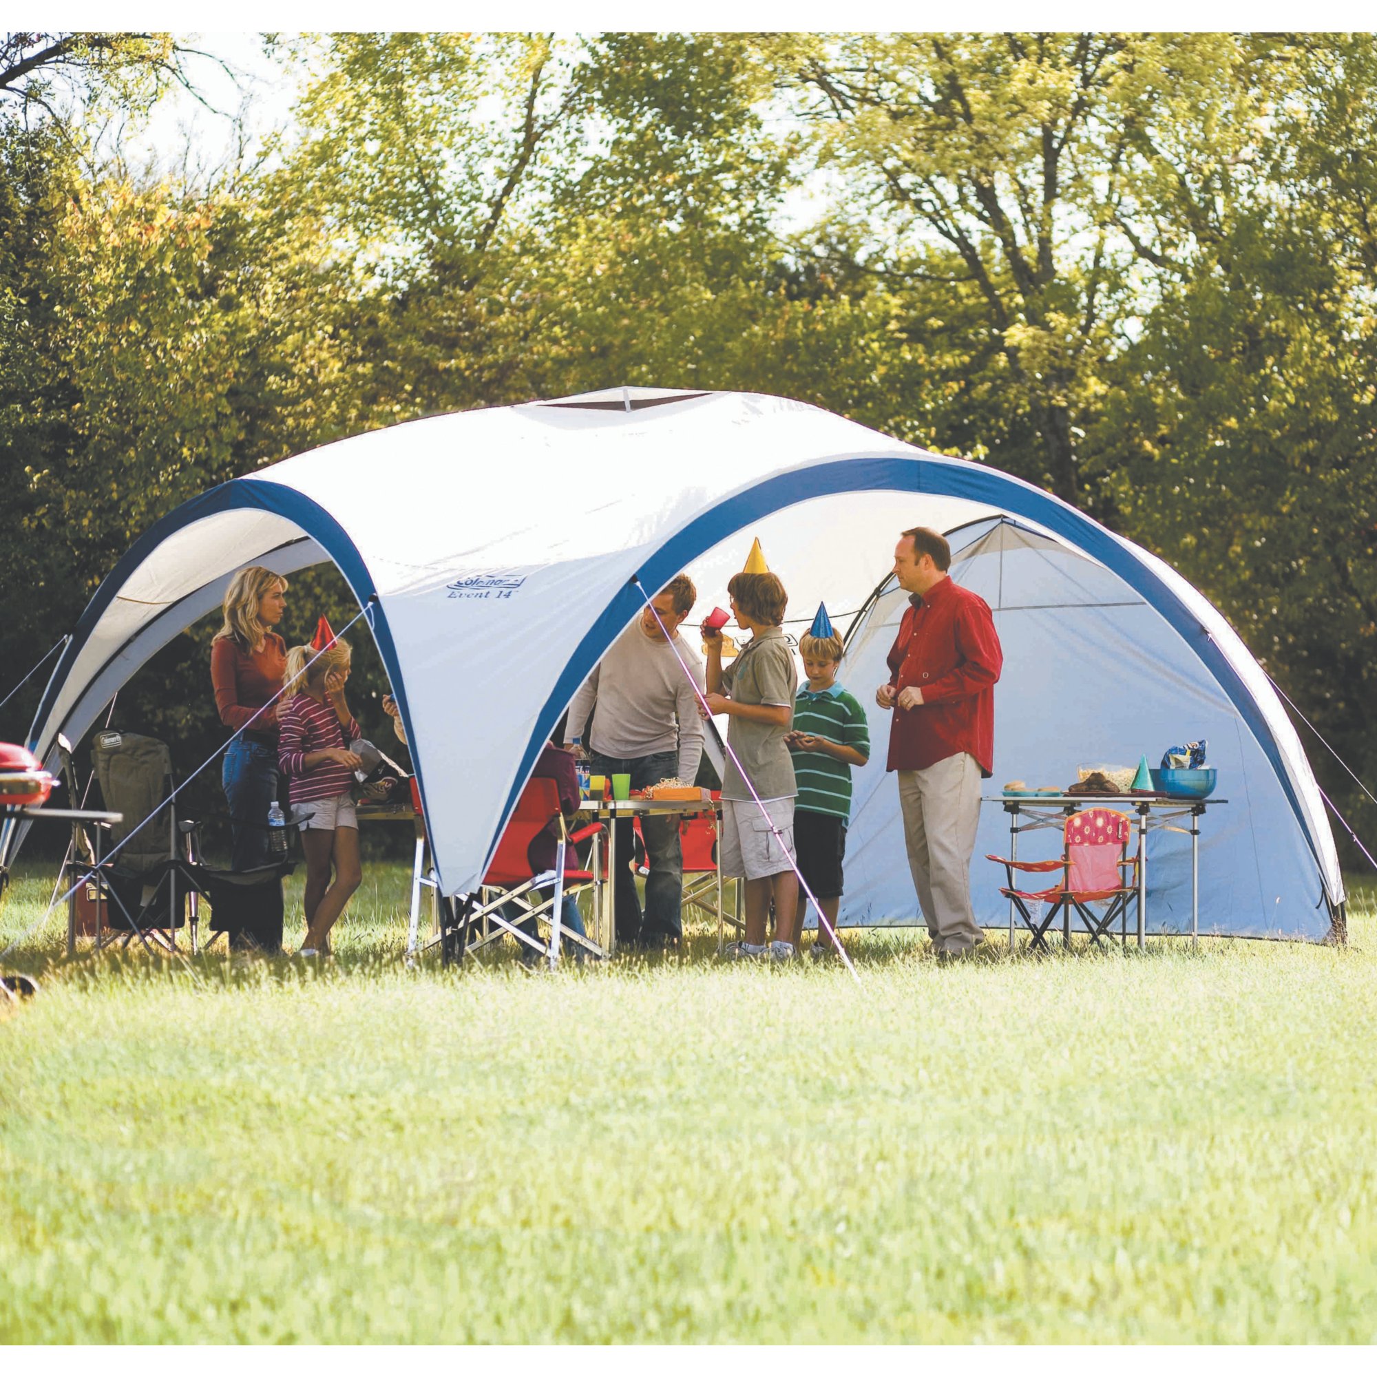
[[[255,465],[533,395],[749,388],[1154,549],[1377,775],[1371,36],[271,48],[291,125],[191,182],[91,134],[190,84],[175,37],[0,36],[0,690],[158,515]],[[204,638],[160,672],[201,683]],[[209,694],[156,697],[213,742]]]

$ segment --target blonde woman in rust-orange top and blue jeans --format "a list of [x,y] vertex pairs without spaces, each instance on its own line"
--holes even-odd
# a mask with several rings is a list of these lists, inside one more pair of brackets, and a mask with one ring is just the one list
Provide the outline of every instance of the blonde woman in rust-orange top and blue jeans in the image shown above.
[[224,595],[224,625],[211,642],[215,706],[220,722],[240,733],[224,752],[220,777],[230,801],[231,870],[269,863],[267,810],[278,781],[273,700],[286,673],[286,643],[273,628],[285,610],[281,574],[259,565],[241,569]]

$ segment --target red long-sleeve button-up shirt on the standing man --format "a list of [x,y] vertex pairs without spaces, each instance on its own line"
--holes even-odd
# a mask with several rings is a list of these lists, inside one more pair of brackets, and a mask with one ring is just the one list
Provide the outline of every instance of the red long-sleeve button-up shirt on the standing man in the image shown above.
[[923,706],[894,709],[888,770],[927,770],[969,752],[994,770],[994,684],[1004,651],[983,598],[943,578],[914,595],[890,650],[890,683],[918,688]]

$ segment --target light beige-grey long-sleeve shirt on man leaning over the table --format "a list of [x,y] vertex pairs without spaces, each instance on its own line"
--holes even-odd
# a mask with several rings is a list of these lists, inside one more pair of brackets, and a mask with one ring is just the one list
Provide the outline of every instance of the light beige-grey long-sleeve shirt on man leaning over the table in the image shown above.
[[574,694],[566,744],[582,733],[596,704],[587,746],[599,755],[628,760],[677,749],[679,778],[693,784],[702,756],[702,717],[679,660],[688,666],[701,691],[705,683],[702,660],[683,636],[676,633],[673,646],[651,640],[636,618]]

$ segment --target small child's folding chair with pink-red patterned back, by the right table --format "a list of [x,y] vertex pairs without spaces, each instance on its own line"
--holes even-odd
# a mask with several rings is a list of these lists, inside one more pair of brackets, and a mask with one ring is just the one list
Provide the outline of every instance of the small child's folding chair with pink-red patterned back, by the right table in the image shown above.
[[[1033,934],[1033,950],[1048,950],[1047,932],[1060,914],[1062,939],[1071,945],[1071,914],[1080,916],[1091,940],[1099,946],[1102,939],[1110,940],[1110,927],[1120,921],[1120,935],[1128,942],[1128,909],[1137,898],[1137,856],[1129,855],[1133,840],[1133,822],[1113,808],[1086,808],[1073,812],[1062,832],[1063,854],[1058,861],[1009,861],[1005,856],[987,855],[986,861],[1002,865],[1008,887],[1001,888],[1007,899],[1013,901],[1023,925]],[[1125,877],[1124,868],[1131,876]],[[1062,872],[1059,884],[1049,890],[1015,890],[1013,872],[1024,870],[1033,874]],[[1030,905],[1038,905],[1037,914]],[[1092,903],[1104,903],[1103,913],[1095,913]]]

